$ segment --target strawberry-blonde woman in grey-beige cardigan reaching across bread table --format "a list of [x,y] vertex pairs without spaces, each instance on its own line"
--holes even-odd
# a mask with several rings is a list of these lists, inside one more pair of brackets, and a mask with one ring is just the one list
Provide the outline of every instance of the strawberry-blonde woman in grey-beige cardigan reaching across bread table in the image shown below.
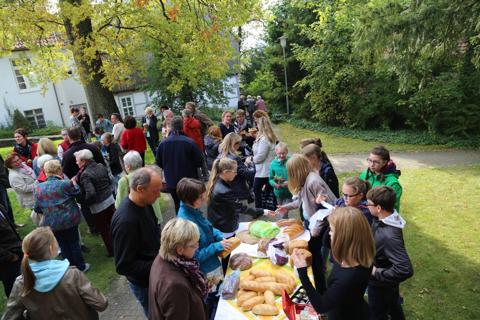
[[287,171],[289,179],[288,190],[293,195],[298,194],[298,199],[285,205],[277,206],[278,212],[279,214],[285,214],[290,210],[302,207],[305,228],[310,230],[312,236],[308,242],[308,247],[313,258],[312,271],[315,278],[315,287],[323,293],[326,291],[326,285],[321,249],[327,223],[326,221],[317,221],[315,225],[310,225],[309,219],[315,213],[315,198],[318,195],[324,196],[327,202],[335,201],[336,197],[302,155],[294,154],[288,159]]

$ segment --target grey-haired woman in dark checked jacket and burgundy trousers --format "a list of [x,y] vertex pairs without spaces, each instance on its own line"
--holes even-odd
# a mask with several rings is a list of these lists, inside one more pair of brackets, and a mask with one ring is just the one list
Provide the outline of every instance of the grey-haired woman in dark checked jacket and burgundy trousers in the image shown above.
[[110,179],[107,169],[93,160],[90,150],[79,150],[73,155],[80,167],[77,175],[72,178],[73,183],[78,184],[82,190],[82,198],[78,200],[90,207],[105,248],[107,248],[108,253],[105,256],[113,257],[110,223],[115,212],[115,199],[109,188]]

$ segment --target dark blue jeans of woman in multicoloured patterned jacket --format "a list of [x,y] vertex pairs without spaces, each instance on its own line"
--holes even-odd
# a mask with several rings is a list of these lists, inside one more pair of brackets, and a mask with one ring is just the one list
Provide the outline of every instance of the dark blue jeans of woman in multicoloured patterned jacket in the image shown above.
[[54,231],[53,235],[59,243],[62,258],[67,259],[71,266],[76,266],[78,270],[84,271],[84,256],[78,244],[78,225],[68,229]]

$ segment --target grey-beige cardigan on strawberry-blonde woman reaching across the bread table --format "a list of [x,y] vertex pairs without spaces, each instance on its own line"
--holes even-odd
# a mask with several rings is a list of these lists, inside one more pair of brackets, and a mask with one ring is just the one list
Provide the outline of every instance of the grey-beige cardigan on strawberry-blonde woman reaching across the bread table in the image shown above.
[[[331,203],[336,200],[335,194],[328,188],[325,181],[315,172],[310,172],[305,179],[303,188],[299,191],[299,198],[296,201],[287,203],[285,206],[287,210],[298,209],[302,201],[305,201],[305,213],[310,218],[315,213],[315,198],[318,195],[322,195],[327,198],[326,202]],[[318,235],[320,231],[326,225],[325,221],[317,221],[317,224],[313,227],[310,226],[310,230]]]

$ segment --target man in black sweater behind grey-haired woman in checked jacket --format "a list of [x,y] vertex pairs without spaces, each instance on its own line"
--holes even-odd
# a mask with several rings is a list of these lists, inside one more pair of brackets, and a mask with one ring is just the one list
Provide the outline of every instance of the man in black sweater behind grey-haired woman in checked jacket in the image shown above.
[[[62,155],[61,169],[68,178],[75,177],[80,170],[80,167],[77,165],[77,160],[75,159],[74,153],[83,149],[90,150],[90,152],[93,154],[94,161],[105,166],[105,160],[103,159],[103,155],[100,150],[98,150],[98,148],[93,144],[86,143],[84,140],[80,140],[81,135],[78,128],[68,128],[67,134],[72,143],[70,143],[68,150],[65,151]],[[90,211],[90,207],[84,205],[81,199],[77,200],[81,205],[80,210],[82,211],[85,222],[88,225],[87,233],[92,236],[98,236],[99,233],[93,219],[92,211]]]

